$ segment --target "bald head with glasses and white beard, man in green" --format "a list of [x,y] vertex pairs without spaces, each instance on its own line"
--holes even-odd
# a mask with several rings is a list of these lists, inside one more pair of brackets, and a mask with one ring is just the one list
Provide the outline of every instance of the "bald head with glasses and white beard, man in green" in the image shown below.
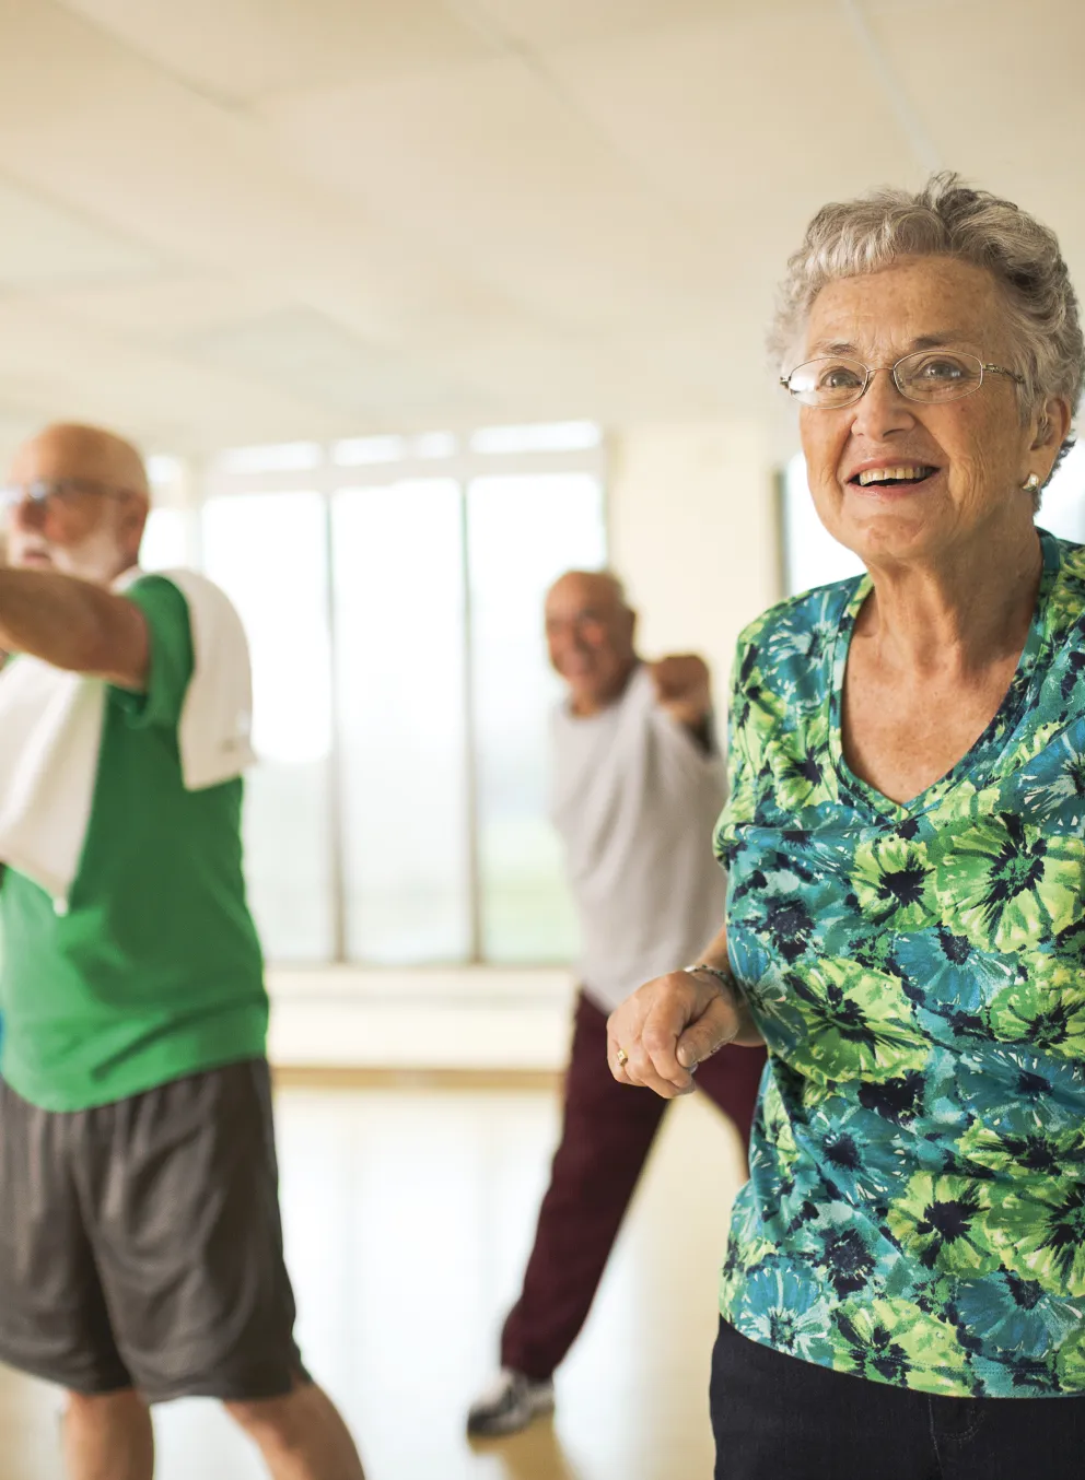
[[7,481],[24,491],[7,527],[13,565],[110,583],[136,564],[151,496],[144,459],[123,437],[46,426],[15,453]]

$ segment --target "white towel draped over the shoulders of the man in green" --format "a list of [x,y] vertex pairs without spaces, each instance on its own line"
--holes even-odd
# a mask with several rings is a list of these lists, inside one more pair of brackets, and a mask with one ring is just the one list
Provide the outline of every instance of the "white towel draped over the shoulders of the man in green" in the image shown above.
[[[145,571],[126,571],[126,591]],[[184,783],[198,792],[253,764],[252,669],[225,592],[188,570],[161,571],[188,602],[192,678],[178,727]],[[0,673],[0,863],[40,884],[58,910],[83,857],[98,778],[105,684],[22,656]]]

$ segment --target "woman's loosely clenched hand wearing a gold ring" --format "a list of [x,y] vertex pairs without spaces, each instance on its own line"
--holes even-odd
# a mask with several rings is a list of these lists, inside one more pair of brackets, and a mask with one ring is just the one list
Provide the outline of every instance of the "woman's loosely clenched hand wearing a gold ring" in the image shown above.
[[611,1012],[607,1060],[620,1085],[673,1100],[691,1092],[697,1064],[736,1039],[759,1042],[739,993],[706,972],[672,971]]

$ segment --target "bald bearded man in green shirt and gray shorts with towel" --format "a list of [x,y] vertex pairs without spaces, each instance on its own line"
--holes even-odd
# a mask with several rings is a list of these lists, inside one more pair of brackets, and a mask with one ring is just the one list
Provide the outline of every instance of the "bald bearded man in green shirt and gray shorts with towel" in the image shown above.
[[139,573],[147,472],[118,437],[47,428],[4,505],[0,1360],[67,1390],[70,1480],[151,1480],[148,1405],[188,1396],[221,1399],[277,1480],[361,1480],[293,1339],[247,744],[200,734],[219,700],[246,724],[240,623],[201,577]]

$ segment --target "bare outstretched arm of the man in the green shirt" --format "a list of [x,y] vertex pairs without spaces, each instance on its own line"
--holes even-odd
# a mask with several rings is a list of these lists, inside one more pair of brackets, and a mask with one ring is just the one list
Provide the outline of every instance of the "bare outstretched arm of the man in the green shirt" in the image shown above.
[[47,570],[0,567],[0,648],[144,690],[151,648],[133,602]]

